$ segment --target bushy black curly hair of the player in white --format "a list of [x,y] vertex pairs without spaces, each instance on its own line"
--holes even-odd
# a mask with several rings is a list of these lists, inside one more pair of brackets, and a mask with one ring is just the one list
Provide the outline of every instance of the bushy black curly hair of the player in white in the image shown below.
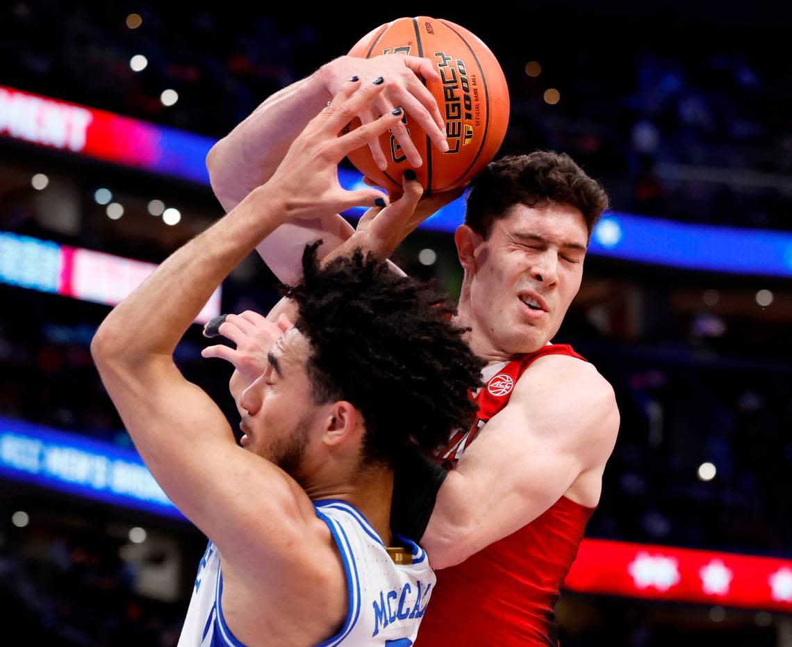
[[282,288],[310,341],[314,402],[352,403],[366,425],[364,459],[390,466],[410,436],[431,451],[467,428],[484,362],[451,323],[454,303],[360,249],[320,268],[318,245],[303,253],[303,280]]

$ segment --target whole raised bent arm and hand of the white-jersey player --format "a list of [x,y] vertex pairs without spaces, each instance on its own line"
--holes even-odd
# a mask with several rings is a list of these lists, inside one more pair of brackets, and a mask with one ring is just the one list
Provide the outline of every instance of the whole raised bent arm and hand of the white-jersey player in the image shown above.
[[105,387],[154,478],[231,561],[253,556],[267,563],[293,554],[295,542],[310,541],[306,527],[315,516],[295,481],[235,444],[216,405],[178,371],[173,349],[211,292],[261,238],[291,217],[370,205],[378,195],[337,183],[336,165],[346,152],[399,119],[389,115],[338,137],[348,114],[381,92],[359,86],[349,83],[308,124],[266,185],[116,306],[91,344]]

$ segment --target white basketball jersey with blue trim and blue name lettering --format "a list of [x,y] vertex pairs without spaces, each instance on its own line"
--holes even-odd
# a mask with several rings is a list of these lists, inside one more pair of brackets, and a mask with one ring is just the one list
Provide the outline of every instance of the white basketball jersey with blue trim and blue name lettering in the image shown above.
[[[348,611],[344,626],[319,647],[409,647],[415,641],[435,573],[415,542],[397,535],[412,552],[412,564],[395,564],[366,518],[340,500],[314,501],[316,515],[333,534],[346,573]],[[223,573],[217,546],[209,542],[178,647],[245,647],[231,633],[220,603]],[[299,622],[299,618],[295,618]],[[266,645],[261,636],[260,645]]]

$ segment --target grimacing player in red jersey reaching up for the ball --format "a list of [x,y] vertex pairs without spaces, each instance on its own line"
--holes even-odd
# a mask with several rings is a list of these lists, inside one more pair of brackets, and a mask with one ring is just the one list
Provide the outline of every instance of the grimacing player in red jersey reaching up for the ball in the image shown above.
[[[338,70],[355,74],[359,65],[393,65],[394,58],[342,57],[258,108],[208,158],[223,205],[233,206],[246,181],[266,179],[262,174],[279,161],[277,151],[287,147],[284,115],[291,124],[310,118],[313,108],[299,101],[300,92],[323,97],[323,78]],[[417,196],[409,206],[416,202]],[[465,271],[459,323],[470,326],[471,348],[489,361],[489,381],[477,395],[480,421],[439,457],[453,469],[434,481],[442,482],[436,503],[425,497],[428,505],[417,514],[431,512],[422,543],[432,565],[443,569],[417,645],[557,643],[554,604],[599,501],[619,412],[596,369],[550,340],[581,285],[588,238],[606,204],[602,188],[565,155],[493,162],[475,181],[466,224],[455,234]],[[415,222],[383,234],[395,206],[350,240],[392,246]],[[380,229],[372,238],[375,223]],[[288,280],[295,251],[306,242],[338,244],[351,231],[324,221],[276,234],[259,249]]]

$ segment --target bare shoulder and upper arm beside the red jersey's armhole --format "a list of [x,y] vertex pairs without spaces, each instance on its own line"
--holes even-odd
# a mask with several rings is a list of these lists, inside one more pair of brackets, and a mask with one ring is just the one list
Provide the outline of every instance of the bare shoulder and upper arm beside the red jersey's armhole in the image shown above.
[[613,390],[594,367],[536,360],[440,487],[422,539],[432,565],[458,564],[562,496],[595,506],[618,429]]

